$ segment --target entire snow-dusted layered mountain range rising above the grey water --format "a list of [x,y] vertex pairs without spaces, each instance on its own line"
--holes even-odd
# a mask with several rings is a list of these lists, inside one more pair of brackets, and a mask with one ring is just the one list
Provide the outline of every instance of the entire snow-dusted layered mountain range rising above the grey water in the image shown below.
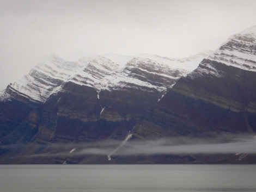
[[255,163],[238,149],[162,151],[254,139],[255,67],[255,26],[182,59],[51,55],[0,93],[0,163]]

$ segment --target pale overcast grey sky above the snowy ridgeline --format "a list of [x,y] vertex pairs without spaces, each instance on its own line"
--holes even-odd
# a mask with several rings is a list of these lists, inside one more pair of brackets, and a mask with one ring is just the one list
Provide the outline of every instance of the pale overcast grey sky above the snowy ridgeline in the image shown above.
[[187,57],[255,24],[254,0],[0,0],[0,89],[52,53]]

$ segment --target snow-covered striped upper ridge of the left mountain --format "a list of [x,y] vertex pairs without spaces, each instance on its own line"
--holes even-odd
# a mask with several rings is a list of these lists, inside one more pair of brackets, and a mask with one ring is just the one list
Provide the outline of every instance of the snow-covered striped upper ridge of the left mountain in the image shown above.
[[[55,92],[61,91],[66,82],[102,89],[144,89],[163,91],[175,81],[196,69],[210,52],[191,57],[172,59],[153,54],[134,57],[116,53],[83,57],[66,61],[57,55],[36,65],[28,75],[8,85],[9,95],[17,93],[38,102],[45,102]],[[3,98],[7,95],[2,94]]]

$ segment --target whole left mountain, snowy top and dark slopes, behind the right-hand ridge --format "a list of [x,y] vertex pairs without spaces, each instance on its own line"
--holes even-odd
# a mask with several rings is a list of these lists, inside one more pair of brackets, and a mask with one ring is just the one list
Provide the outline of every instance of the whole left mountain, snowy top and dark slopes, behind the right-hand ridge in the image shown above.
[[[205,55],[209,51],[183,59],[108,53],[77,62],[51,55],[1,93],[2,162],[22,163],[8,157],[47,151],[52,143],[123,139],[148,107]],[[13,145],[24,148],[15,151]]]

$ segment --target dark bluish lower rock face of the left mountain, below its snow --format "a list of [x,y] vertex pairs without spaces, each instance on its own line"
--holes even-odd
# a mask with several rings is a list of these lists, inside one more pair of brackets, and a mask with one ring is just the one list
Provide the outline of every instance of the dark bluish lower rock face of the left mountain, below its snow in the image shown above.
[[[159,91],[132,88],[105,90],[98,95],[94,88],[68,82],[62,91],[41,104],[2,102],[1,162],[63,163],[66,157],[27,159],[19,156],[51,152],[52,144],[123,140],[158,97]],[[12,147],[17,144],[22,145],[14,150]],[[55,152],[63,150],[67,149],[57,147]],[[79,163],[84,156],[77,158],[71,158],[69,163]]]

